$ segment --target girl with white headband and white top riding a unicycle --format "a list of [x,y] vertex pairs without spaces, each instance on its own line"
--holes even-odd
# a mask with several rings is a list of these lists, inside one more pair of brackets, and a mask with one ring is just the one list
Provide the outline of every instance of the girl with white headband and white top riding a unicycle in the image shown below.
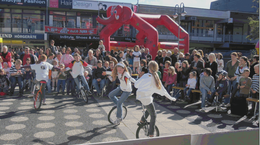
[[[112,92],[110,92],[108,94],[108,97],[117,106],[117,113],[116,113],[117,119],[115,122],[113,122],[113,124],[119,125],[120,122],[123,121],[122,104],[132,92],[131,82],[135,83],[136,80],[130,76],[130,74],[128,73],[127,67],[124,65],[123,62],[119,62],[118,64],[116,64],[116,66],[113,68],[112,72],[106,71],[106,72],[103,72],[102,75],[111,75],[111,77],[113,78],[113,81],[115,81],[116,77],[118,76],[118,79],[120,80],[120,87],[113,90]],[[121,95],[119,100],[116,97],[117,95]]]

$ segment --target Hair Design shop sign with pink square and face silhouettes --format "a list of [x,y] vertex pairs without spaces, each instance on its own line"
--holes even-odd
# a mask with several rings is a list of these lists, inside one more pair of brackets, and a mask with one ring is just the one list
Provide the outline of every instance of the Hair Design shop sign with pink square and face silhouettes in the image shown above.
[[122,5],[129,8],[131,4],[123,3],[111,3],[111,2],[99,2],[98,1],[77,1],[77,0],[50,0],[51,8],[71,8],[82,10],[107,10],[109,6]]

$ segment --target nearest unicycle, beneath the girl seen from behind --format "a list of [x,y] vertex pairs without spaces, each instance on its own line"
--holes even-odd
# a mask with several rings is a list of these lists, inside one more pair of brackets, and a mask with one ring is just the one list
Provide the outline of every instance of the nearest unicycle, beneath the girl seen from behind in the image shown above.
[[[144,118],[145,118],[145,111],[144,111],[144,105],[142,104],[143,107],[143,113],[144,113]],[[149,137],[149,125],[150,122],[147,122],[147,119],[145,118],[145,122],[139,126],[136,130],[136,138],[148,138]],[[154,137],[158,137],[159,136],[159,129],[158,127],[155,125],[155,130],[154,130]]]

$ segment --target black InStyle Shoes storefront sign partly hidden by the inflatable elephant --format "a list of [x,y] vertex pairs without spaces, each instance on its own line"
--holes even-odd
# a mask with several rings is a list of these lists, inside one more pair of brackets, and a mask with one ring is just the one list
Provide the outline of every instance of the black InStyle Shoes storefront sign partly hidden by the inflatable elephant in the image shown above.
[[[76,41],[100,41],[99,35],[61,35],[61,34],[49,34],[48,40],[76,40]],[[136,38],[133,37],[120,37],[110,36],[110,41],[122,41],[122,42],[136,42]]]

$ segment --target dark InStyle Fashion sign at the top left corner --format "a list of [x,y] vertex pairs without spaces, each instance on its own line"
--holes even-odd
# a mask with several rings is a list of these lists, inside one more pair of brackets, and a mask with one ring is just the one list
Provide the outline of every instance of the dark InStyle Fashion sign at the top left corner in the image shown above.
[[47,0],[0,0],[0,4],[46,7]]

